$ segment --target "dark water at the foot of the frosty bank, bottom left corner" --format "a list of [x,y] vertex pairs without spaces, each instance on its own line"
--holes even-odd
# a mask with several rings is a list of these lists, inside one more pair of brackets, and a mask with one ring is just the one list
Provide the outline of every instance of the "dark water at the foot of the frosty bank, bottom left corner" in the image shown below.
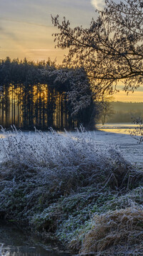
[[0,248],[0,256],[69,256],[56,242],[44,244],[3,220],[0,220]]

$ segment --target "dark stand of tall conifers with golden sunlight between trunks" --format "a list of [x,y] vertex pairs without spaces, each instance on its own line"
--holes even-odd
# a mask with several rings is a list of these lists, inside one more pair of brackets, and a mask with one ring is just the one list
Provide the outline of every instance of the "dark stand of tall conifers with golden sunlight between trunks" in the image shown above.
[[[9,127],[91,129],[98,114],[84,70],[50,60],[0,60],[0,124]],[[81,88],[80,88],[81,87]]]

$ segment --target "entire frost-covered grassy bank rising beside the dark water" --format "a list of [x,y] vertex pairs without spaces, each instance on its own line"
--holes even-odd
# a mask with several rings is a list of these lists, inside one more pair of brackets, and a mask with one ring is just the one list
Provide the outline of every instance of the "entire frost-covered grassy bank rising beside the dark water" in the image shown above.
[[143,174],[117,148],[97,145],[83,129],[4,136],[1,216],[79,255],[143,252]]

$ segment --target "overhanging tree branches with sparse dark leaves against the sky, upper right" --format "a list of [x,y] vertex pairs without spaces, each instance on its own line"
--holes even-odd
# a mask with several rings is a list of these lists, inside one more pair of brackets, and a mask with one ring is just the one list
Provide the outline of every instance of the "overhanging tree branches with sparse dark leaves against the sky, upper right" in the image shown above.
[[96,93],[114,92],[119,81],[125,91],[134,91],[143,82],[143,1],[105,3],[88,29],[72,29],[65,18],[60,23],[58,16],[52,17],[59,29],[54,41],[61,49],[69,48],[64,63],[82,66]]

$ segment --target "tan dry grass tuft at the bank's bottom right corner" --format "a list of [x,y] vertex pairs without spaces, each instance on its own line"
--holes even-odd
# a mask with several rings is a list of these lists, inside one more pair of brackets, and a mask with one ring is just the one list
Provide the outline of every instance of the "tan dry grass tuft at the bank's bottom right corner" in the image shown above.
[[79,255],[143,255],[143,211],[127,208],[94,216]]

